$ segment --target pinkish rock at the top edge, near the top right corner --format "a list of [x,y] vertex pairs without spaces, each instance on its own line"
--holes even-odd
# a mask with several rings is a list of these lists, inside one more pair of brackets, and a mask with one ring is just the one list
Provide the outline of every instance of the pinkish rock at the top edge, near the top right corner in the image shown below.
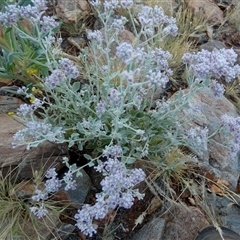
[[223,12],[212,0],[185,0],[189,8],[199,16],[204,16],[211,24],[223,22]]

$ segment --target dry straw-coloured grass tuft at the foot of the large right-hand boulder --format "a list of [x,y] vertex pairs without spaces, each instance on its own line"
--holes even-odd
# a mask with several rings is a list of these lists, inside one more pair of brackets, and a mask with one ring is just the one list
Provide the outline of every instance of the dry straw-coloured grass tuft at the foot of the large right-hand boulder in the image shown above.
[[[175,148],[161,162],[153,164],[157,168],[149,175],[148,185],[154,195],[158,189],[158,196],[171,202],[180,200],[181,194],[185,191],[193,191],[191,190],[194,188],[192,174],[196,167],[196,159],[193,155]],[[158,185],[156,183],[159,187],[156,187]]]

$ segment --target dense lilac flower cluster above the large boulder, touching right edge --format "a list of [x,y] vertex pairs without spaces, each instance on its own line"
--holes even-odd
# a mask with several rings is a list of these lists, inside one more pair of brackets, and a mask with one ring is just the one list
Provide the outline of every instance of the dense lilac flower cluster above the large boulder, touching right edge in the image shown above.
[[240,75],[240,66],[235,64],[237,54],[233,49],[212,52],[203,49],[198,53],[184,54],[182,60],[189,65],[195,77],[199,79],[224,77],[226,82],[231,82]]

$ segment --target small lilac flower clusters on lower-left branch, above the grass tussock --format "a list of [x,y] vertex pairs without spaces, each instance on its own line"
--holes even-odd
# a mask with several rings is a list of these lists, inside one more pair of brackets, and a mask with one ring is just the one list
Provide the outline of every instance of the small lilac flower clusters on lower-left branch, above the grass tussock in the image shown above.
[[48,198],[48,195],[51,193],[57,192],[62,186],[62,182],[66,183],[65,190],[75,190],[76,189],[76,180],[73,180],[73,172],[71,169],[65,173],[65,176],[62,180],[57,178],[57,173],[55,168],[50,168],[46,172],[45,177],[47,178],[45,182],[44,190],[37,189],[35,195],[32,196],[32,200],[35,202],[41,202],[40,207],[30,207],[30,211],[37,217],[42,218],[48,214],[48,210],[44,206],[44,200]]

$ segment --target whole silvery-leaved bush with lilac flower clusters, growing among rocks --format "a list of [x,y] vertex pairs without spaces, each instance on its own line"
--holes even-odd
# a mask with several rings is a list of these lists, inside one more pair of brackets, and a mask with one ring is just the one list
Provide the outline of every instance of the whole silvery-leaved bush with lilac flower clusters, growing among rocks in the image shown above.
[[[169,35],[176,36],[176,20],[164,15],[159,6],[143,6],[133,16],[130,0],[92,1],[91,4],[103,29],[88,32],[89,46],[75,62],[56,46],[52,49],[54,54],[45,51],[44,67],[48,71],[38,78],[44,97],[37,99],[28,88],[19,89],[19,94],[33,98],[33,101],[18,109],[26,127],[14,135],[14,146],[26,145],[29,149],[48,140],[68,143],[69,148],[74,146],[89,153],[84,155],[88,165],[96,165],[105,178],[96,205],[84,205],[75,216],[77,226],[87,235],[96,232],[96,226],[92,224],[94,218],[104,218],[117,206],[129,208],[134,197],[142,198],[138,191],[132,190],[145,176],[141,169],[131,169],[129,165],[137,158],[150,160],[161,167],[166,154],[177,146],[191,147],[199,156],[206,151],[208,129],[199,127],[185,131],[189,123],[177,116],[189,108],[190,99],[196,92],[206,87],[218,91],[216,96],[223,92],[217,82],[210,84],[211,74],[215,72],[208,69],[208,74],[200,75],[197,58],[190,54],[183,58],[189,65],[188,93],[179,91],[171,100],[155,100],[154,94],[159,88],[164,91],[172,70],[168,65],[171,54],[158,48],[153,39],[166,41]],[[117,8],[128,11],[129,19],[114,18]],[[119,40],[119,33],[127,21],[133,27],[133,44]],[[115,50],[112,43],[116,45]],[[191,58],[194,61],[188,61]],[[230,63],[229,58],[226,61]],[[36,117],[36,111],[41,119]],[[71,166],[69,169],[63,180],[72,182],[69,185],[72,188],[71,176],[79,169]],[[54,169],[49,170],[46,177],[45,192],[36,192],[36,201],[44,202],[61,184]],[[121,182],[118,181],[120,177]],[[46,214],[44,208],[34,208],[32,212],[38,217]]]

